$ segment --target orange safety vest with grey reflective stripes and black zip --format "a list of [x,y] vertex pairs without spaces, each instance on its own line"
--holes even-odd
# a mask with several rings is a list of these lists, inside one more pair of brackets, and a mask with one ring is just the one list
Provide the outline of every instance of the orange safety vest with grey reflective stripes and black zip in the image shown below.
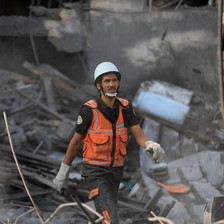
[[128,100],[119,100],[117,122],[109,122],[97,107],[96,100],[88,105],[93,111],[93,118],[87,134],[83,139],[83,162],[99,166],[123,166],[128,144],[127,127],[124,127],[122,109],[129,107]]

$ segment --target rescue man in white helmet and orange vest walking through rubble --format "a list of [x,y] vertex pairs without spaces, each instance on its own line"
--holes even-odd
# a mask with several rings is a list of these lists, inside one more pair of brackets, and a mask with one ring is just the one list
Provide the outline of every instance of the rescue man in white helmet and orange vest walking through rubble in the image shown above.
[[128,129],[156,162],[163,159],[164,150],[143,133],[128,100],[117,98],[121,80],[117,67],[110,62],[99,64],[94,79],[100,97],[88,101],[81,108],[75,134],[53,182],[60,192],[83,141],[82,176],[90,190],[89,199],[94,200],[96,210],[109,223],[118,224],[118,190],[126,156]]

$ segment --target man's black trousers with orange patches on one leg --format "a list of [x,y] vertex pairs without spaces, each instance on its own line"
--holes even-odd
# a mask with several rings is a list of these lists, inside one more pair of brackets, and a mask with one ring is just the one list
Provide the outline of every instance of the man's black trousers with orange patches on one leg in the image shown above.
[[90,191],[89,199],[93,199],[97,212],[112,224],[119,223],[117,201],[122,176],[123,167],[111,168],[111,170],[99,167],[95,175],[92,173],[90,176],[85,176]]

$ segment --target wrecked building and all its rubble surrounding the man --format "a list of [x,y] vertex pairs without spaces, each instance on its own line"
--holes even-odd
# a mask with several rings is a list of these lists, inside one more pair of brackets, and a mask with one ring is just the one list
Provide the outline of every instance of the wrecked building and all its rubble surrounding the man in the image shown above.
[[155,164],[129,135],[121,223],[222,223],[222,8],[222,0],[0,0],[0,223],[101,222],[81,150],[63,195],[52,179],[80,107],[98,96],[93,73],[103,61],[120,68],[119,96],[166,152]]

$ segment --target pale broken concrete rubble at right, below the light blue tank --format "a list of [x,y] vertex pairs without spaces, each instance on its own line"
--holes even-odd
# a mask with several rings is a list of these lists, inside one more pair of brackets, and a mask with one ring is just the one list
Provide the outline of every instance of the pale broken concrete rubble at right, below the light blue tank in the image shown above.
[[205,218],[206,205],[215,197],[223,197],[224,192],[223,121],[219,103],[207,94],[194,93],[189,106],[183,124],[179,125],[144,114],[143,130],[160,142],[166,158],[163,164],[155,166],[145,150],[140,149],[141,174],[150,195],[162,186],[160,208],[168,202],[175,203],[167,216],[174,223],[212,223],[211,220],[224,218],[215,217],[217,211],[211,214],[211,206],[210,217]]

